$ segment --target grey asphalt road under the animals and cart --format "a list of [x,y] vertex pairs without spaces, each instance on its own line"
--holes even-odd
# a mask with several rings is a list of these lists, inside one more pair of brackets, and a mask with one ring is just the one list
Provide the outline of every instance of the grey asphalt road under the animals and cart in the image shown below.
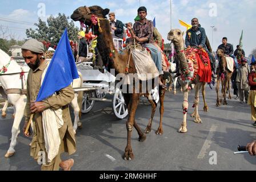
[[[250,107],[237,100],[229,105],[215,107],[216,94],[207,88],[209,112],[203,112],[200,96],[199,114],[203,123],[187,118],[188,133],[177,130],[182,121],[182,93],[166,93],[162,136],[155,135],[159,123],[156,111],[153,130],[145,142],[138,142],[135,129],[131,140],[134,160],[122,159],[126,147],[126,119],[115,118],[109,102],[96,102],[94,109],[82,116],[83,128],[77,131],[77,152],[73,170],[85,171],[169,171],[169,170],[255,170],[256,158],[249,154],[236,154],[238,144],[246,145],[256,139],[256,127],[250,121]],[[189,96],[189,114],[193,111],[194,92]],[[158,106],[159,108],[159,106]],[[144,130],[150,117],[149,102],[142,98],[135,116]],[[0,170],[40,170],[29,156],[30,138],[19,135],[16,153],[4,157],[9,148],[13,119],[9,110],[6,119],[0,119]],[[73,115],[72,115],[73,117]],[[22,124],[23,126],[23,121]],[[21,127],[22,127],[21,126]],[[212,156],[213,155],[213,156]],[[69,156],[64,154],[63,159]],[[210,161],[210,162],[209,162]]]

